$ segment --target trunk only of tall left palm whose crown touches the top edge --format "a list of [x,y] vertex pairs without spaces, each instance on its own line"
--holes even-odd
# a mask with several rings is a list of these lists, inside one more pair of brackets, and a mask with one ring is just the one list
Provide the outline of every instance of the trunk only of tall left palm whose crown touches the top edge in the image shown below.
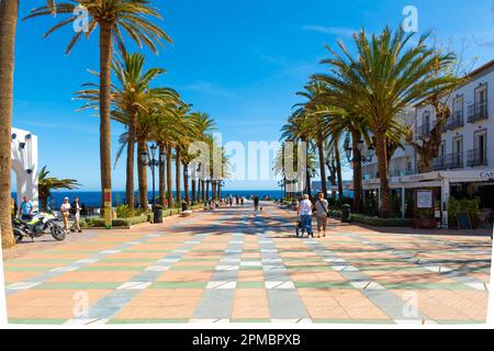
[[101,193],[104,205],[104,191],[112,189],[112,156],[111,156],[111,71],[112,71],[112,27],[102,22],[100,24],[100,167]]

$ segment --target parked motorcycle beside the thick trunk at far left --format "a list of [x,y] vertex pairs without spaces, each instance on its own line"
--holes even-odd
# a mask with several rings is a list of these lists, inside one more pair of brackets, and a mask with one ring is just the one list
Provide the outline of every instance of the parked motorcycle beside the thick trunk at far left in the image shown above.
[[66,238],[66,233],[57,222],[58,218],[52,211],[35,214],[30,222],[14,218],[12,225],[15,241],[21,242],[25,237],[30,237],[34,241],[34,238],[48,234],[55,240],[63,241]]

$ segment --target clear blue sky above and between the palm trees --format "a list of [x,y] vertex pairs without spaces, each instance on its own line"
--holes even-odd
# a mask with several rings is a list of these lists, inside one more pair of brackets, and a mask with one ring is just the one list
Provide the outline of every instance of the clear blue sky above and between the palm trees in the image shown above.
[[[21,1],[27,14],[41,0]],[[217,121],[224,141],[273,141],[299,102],[295,92],[324,70],[323,44],[337,38],[351,47],[359,27],[379,32],[403,21],[403,8],[417,7],[419,30],[434,30],[440,43],[464,48],[476,66],[491,60],[494,15],[491,0],[156,0],[164,29],[173,38],[159,56],[145,49],[148,67],[168,73],[156,83],[177,89],[194,109]],[[77,178],[85,190],[99,189],[99,121],[76,113],[72,93],[98,70],[98,36],[81,41],[70,55],[71,27],[43,39],[52,18],[21,22],[16,38],[14,126],[40,137],[40,163],[54,176]],[[463,44],[462,44],[463,43]],[[132,46],[131,46],[132,47]],[[112,125],[114,151],[124,128]],[[113,186],[124,189],[125,167]],[[351,173],[346,172],[346,178]],[[277,189],[276,181],[232,182],[229,189]]]

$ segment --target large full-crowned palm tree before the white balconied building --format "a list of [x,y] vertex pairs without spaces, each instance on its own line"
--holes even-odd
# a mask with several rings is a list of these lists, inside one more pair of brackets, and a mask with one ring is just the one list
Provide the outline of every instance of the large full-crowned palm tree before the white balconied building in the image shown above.
[[372,36],[362,30],[353,35],[357,58],[338,42],[343,55],[328,47],[333,58],[323,61],[330,65],[330,73],[324,78],[333,97],[330,104],[339,106],[340,99],[351,95],[356,103],[352,110],[364,118],[375,137],[382,217],[391,213],[388,137],[392,134],[394,138],[403,138],[406,131],[401,124],[401,113],[444,91],[451,82],[451,77],[436,72],[450,65],[454,55],[428,47],[429,33],[422,35],[416,44],[411,43],[413,36],[414,33],[406,34],[401,27],[394,33],[385,27],[380,35]]

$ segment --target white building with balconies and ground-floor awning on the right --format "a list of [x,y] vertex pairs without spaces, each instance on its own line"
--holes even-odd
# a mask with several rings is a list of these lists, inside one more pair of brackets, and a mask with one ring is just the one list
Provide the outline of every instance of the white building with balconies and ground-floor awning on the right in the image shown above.
[[[439,157],[434,171],[417,174],[417,155],[413,147],[397,150],[390,163],[390,183],[402,202],[416,189],[435,190],[436,216],[447,225],[447,203],[450,196],[479,196],[482,206],[494,207],[494,60],[469,75],[469,81],[447,99],[452,114],[442,133]],[[414,109],[416,135],[427,136],[436,123],[434,107]],[[489,144],[491,143],[491,144]],[[491,145],[491,146],[489,146]],[[379,193],[377,159],[363,166],[363,189]],[[408,190],[408,191],[407,191]],[[404,194],[404,195],[403,195]]]

